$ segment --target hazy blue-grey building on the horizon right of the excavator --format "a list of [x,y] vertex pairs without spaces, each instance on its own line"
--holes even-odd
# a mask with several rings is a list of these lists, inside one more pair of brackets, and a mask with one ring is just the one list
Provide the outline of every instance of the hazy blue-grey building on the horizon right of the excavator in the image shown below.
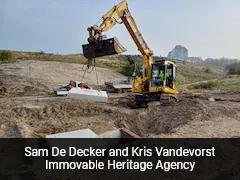
[[188,59],[188,50],[184,46],[176,45],[175,48],[168,53],[168,58],[186,61]]

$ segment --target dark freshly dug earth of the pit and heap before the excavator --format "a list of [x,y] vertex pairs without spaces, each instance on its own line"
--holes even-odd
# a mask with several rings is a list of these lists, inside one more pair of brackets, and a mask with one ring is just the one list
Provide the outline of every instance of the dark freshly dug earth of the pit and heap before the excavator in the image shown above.
[[154,105],[147,110],[135,111],[132,117],[118,119],[118,126],[124,126],[146,137],[153,134],[172,133],[178,126],[210,117],[211,113],[199,100],[184,99],[173,106]]

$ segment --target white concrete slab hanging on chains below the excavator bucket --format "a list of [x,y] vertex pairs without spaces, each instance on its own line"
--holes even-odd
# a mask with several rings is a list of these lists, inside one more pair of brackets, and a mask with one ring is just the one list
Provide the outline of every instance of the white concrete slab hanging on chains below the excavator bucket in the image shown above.
[[86,99],[92,101],[107,102],[108,95],[106,91],[98,91],[94,89],[72,88],[67,95],[69,98]]

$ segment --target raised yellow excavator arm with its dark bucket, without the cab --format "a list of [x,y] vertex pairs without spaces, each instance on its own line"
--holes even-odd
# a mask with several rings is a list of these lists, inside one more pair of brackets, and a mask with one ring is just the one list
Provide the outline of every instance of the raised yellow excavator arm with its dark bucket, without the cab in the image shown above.
[[[119,54],[124,52],[125,48],[120,45],[117,38],[113,38],[108,41],[106,39],[106,36],[102,34],[103,32],[110,30],[117,23],[124,23],[138,50],[143,55],[143,62],[147,72],[145,79],[150,78],[151,64],[153,63],[153,53],[144,40],[142,34],[140,33],[137,24],[128,9],[127,2],[124,0],[118,5],[114,6],[105,15],[102,16],[102,19],[103,21],[99,26],[94,25],[88,28],[89,44],[83,45],[83,50],[86,52],[84,53],[85,57],[91,61],[94,57]],[[120,19],[122,22],[119,22]],[[111,42],[113,42],[112,46],[109,45]],[[114,50],[111,48],[114,48]]]

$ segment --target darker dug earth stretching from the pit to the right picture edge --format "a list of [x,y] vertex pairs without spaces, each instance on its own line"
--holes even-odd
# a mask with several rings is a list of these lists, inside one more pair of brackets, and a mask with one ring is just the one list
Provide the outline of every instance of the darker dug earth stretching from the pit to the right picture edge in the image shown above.
[[[237,118],[236,109],[215,105],[208,101],[184,98],[172,106],[154,105],[147,110],[134,111],[132,116],[116,117],[118,127],[125,127],[143,137],[170,134],[179,126],[191,122],[208,121],[216,117]],[[229,122],[231,123],[231,122]],[[230,125],[230,124],[229,124]],[[196,132],[197,133],[197,132]]]

